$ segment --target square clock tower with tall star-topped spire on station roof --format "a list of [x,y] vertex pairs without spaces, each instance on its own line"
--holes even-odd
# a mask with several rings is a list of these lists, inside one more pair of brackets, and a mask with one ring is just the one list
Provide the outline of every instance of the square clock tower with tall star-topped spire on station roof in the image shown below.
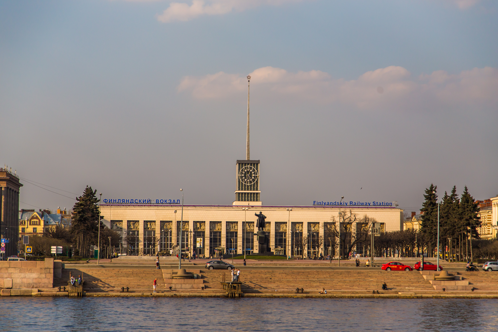
[[262,205],[259,195],[259,160],[249,157],[249,81],[248,79],[248,130],[246,141],[246,160],[237,160],[237,189],[233,205]]

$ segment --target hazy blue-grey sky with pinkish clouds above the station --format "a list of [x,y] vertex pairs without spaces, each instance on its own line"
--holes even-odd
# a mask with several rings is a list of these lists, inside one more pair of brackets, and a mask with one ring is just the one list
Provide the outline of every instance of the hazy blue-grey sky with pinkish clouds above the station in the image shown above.
[[0,164],[24,209],[498,194],[498,1],[0,1]]

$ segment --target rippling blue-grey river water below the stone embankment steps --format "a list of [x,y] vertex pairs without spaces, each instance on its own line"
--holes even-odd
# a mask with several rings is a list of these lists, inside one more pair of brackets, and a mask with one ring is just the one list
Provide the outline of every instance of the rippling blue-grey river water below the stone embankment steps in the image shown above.
[[498,300],[0,299],[0,331],[497,331]]

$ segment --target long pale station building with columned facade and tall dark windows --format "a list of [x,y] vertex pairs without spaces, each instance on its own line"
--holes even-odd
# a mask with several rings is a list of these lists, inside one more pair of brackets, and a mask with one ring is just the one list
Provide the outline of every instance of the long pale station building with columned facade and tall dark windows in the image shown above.
[[[152,201],[152,200],[151,200]],[[113,201],[114,202],[114,201]],[[349,204],[349,202],[348,202]],[[266,216],[264,245],[258,245],[254,229],[257,217]],[[374,218],[380,231],[403,229],[403,210],[391,206],[262,206],[109,204],[101,213],[110,228],[124,238],[123,253],[176,255],[182,228],[182,253],[198,257],[217,256],[219,250],[234,254],[282,254],[289,256],[337,256],[334,230],[339,212],[356,214],[357,224],[365,215]],[[344,231],[344,225],[341,227]],[[308,239],[303,245],[303,237]],[[357,253],[367,253],[367,244],[357,245]],[[126,248],[127,247],[127,248]]]

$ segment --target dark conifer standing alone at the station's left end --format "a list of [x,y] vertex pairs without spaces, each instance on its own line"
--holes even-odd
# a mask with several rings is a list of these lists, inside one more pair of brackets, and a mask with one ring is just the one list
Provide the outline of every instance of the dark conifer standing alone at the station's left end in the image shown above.
[[[97,243],[99,229],[99,206],[97,203],[100,200],[97,199],[96,193],[97,190],[92,190],[92,187],[87,186],[83,195],[76,198],[77,202],[73,207],[71,233],[79,255],[86,258],[90,256],[90,245]],[[100,216],[101,220],[103,218]],[[101,227],[104,227],[102,222]]]

